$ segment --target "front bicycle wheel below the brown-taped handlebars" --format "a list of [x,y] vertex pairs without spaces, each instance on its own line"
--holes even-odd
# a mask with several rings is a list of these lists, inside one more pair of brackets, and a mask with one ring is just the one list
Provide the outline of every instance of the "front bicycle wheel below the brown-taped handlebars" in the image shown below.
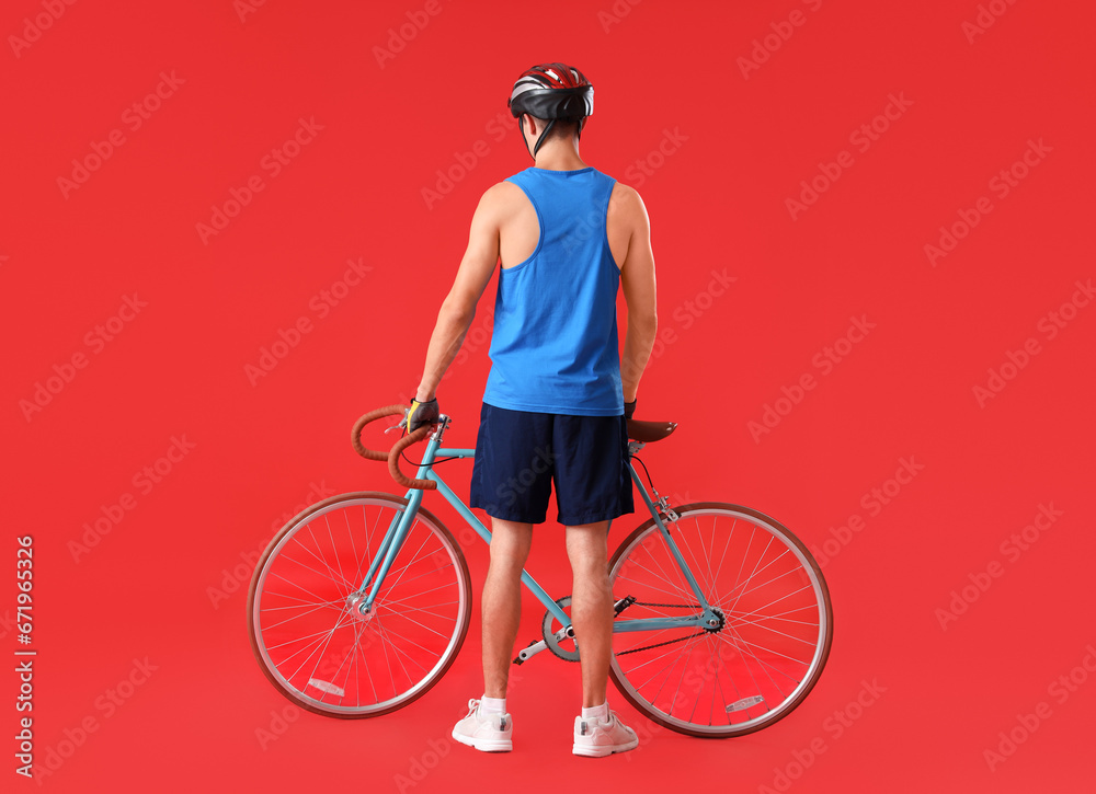
[[[286,523],[256,564],[248,591],[251,648],[271,683],[301,709],[340,718],[396,711],[437,683],[464,644],[468,565],[449,530],[422,507],[370,619],[350,601],[406,506],[380,492],[332,496]],[[439,602],[415,606],[420,596]]]

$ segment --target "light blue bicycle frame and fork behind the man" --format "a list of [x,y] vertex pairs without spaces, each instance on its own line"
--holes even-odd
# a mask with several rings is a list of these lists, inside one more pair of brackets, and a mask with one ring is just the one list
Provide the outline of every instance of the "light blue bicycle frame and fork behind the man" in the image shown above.
[[[490,544],[490,530],[483,526],[483,523],[476,517],[468,506],[461,502],[460,497],[453,493],[453,490],[433,471],[432,467],[438,454],[452,458],[471,458],[476,454],[475,449],[442,448],[442,436],[445,433],[445,428],[448,427],[448,424],[449,417],[443,414],[439,417],[437,429],[431,435],[426,444],[426,450],[423,453],[422,464],[419,467],[416,476],[422,480],[433,480],[437,483],[437,492],[445,497],[446,502],[453,505],[454,509],[460,514],[460,517],[465,519],[468,526],[471,527],[486,543]],[[639,445],[639,447],[642,447],[642,445]],[[636,447],[636,449],[638,449],[638,447]],[[699,628],[705,623],[708,623],[708,621],[712,621],[709,624],[715,625],[715,621],[718,620],[716,613],[712,612],[711,606],[708,603],[708,599],[705,597],[704,591],[700,589],[696,578],[693,576],[693,572],[685,563],[685,559],[682,556],[681,550],[677,548],[677,543],[674,542],[673,536],[670,533],[670,530],[666,529],[666,525],[663,523],[658,506],[651,499],[650,494],[647,493],[647,488],[643,486],[643,483],[639,479],[639,474],[636,473],[636,468],[630,461],[628,463],[628,469],[631,472],[632,482],[635,482],[639,488],[639,494],[642,496],[648,511],[650,511],[651,516],[654,518],[654,522],[659,527],[659,532],[662,534],[662,539],[665,541],[666,548],[670,549],[670,553],[673,554],[674,560],[677,562],[677,567],[681,569],[682,575],[688,583],[689,588],[693,590],[696,603],[700,605],[701,611],[697,611],[696,613],[689,615],[672,618],[643,618],[637,620],[618,618],[613,623],[613,631],[660,631],[663,629],[683,629],[693,625]],[[408,532],[411,530],[411,526],[414,523],[414,519],[419,514],[419,505],[422,504],[422,494],[423,492],[419,488],[409,488],[406,494],[406,498],[408,500],[407,507],[402,510],[398,510],[392,517],[388,531],[385,533],[385,537],[380,542],[380,548],[377,550],[377,554],[374,556],[373,562],[369,565],[369,569],[362,582],[362,586],[357,589],[357,594],[359,595],[365,594],[366,590],[368,590],[365,602],[359,605],[359,608],[363,611],[367,612],[373,609],[374,600],[377,598],[377,594],[380,591],[380,588],[385,583],[385,577],[388,575],[388,571],[392,566],[392,562],[396,560],[396,555],[402,548],[403,541],[407,539]],[[545,609],[552,613],[562,628],[566,629],[571,625],[570,615],[568,615],[555,600],[552,600],[551,596],[545,591],[545,589],[529,575],[527,571],[525,571],[525,568],[522,568],[522,584],[524,584],[529,591],[536,596],[537,600],[545,606]]]

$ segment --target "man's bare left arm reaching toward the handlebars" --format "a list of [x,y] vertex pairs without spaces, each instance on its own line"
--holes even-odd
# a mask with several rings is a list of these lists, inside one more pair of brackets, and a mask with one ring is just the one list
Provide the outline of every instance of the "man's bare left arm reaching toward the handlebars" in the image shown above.
[[453,364],[465,341],[465,334],[468,333],[468,326],[476,317],[476,303],[499,263],[499,227],[502,217],[499,187],[495,185],[483,194],[472,216],[468,248],[460,260],[453,287],[437,312],[437,323],[426,348],[426,365],[415,392],[415,400],[419,402],[434,399],[437,384]]

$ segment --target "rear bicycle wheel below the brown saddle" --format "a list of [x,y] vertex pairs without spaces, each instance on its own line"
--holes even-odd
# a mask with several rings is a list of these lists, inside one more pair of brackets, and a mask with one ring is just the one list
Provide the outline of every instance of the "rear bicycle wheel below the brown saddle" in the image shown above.
[[[753,733],[787,716],[825,666],[830,591],[807,548],[778,521],[738,505],[697,503],[664,519],[713,608],[715,625],[613,635],[609,676],[654,722],[692,736]],[[617,621],[688,617],[699,599],[654,519],[609,561]]]

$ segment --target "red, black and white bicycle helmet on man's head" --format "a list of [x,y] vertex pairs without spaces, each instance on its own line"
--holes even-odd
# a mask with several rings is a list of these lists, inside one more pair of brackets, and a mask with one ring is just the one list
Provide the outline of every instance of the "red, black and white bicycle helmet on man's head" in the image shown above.
[[526,69],[514,83],[514,90],[506,102],[510,112],[522,124],[522,114],[548,119],[537,145],[533,149],[536,158],[540,145],[547,140],[557,120],[578,122],[579,136],[586,116],[594,112],[594,87],[581,71],[567,64],[540,64]]

